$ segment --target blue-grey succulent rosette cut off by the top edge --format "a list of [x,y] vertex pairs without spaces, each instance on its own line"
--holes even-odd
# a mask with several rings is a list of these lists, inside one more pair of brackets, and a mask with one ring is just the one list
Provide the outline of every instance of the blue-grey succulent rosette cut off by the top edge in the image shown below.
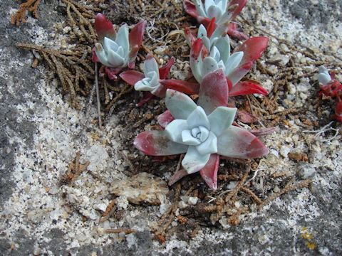
[[215,19],[217,26],[224,25],[227,27],[229,36],[239,39],[247,39],[243,33],[237,31],[237,24],[230,23],[242,11],[247,0],[205,0],[204,4],[201,0],[184,0],[183,5],[185,11],[190,16],[197,19],[198,23],[208,26],[212,18]]

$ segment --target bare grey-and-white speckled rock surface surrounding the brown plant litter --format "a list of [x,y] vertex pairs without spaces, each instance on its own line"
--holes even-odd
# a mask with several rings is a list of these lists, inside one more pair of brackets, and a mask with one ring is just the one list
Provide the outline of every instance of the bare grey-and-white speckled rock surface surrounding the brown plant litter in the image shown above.
[[[276,198],[262,210],[243,215],[237,226],[222,218],[217,227],[203,228],[189,242],[172,237],[161,244],[150,232],[160,208],[133,207],[122,196],[118,204],[125,211],[121,215],[118,212],[108,223],[99,223],[105,206],[113,199],[108,197],[113,181],[133,178],[125,174],[128,164],[120,154],[125,147],[121,145],[120,132],[125,127],[115,115],[102,130],[90,127],[87,118],[96,118],[95,108],[87,116],[71,107],[68,97],[47,82],[48,69],[43,65],[31,68],[31,53],[15,46],[18,42],[53,41],[53,26],[64,18],[56,2],[42,1],[38,20],[28,17],[27,23],[19,27],[9,23],[9,14],[15,11],[18,1],[0,2],[1,255],[342,254],[341,135],[333,139],[325,134],[312,136],[310,170],[301,175],[304,178],[314,173],[310,189]],[[341,60],[341,9],[341,1],[250,0],[242,16],[293,45],[311,46],[316,52],[333,53]],[[249,33],[248,29],[245,33]],[[266,58],[285,65],[287,58],[280,58],[279,44],[276,38],[271,38]],[[286,47],[281,47],[282,54],[291,51]],[[296,57],[306,60],[301,54]],[[279,72],[274,63],[266,66],[271,73]],[[312,69],[313,66],[308,66],[309,71]],[[341,68],[338,72],[341,73]],[[338,78],[341,80],[341,76]],[[259,80],[273,87],[273,82],[264,75]],[[315,86],[302,78],[291,90],[281,92],[287,94],[288,101],[281,102],[277,111],[307,104],[308,97],[316,97]],[[297,92],[301,96],[294,102]],[[329,112],[323,112],[323,116],[326,123],[330,122]],[[266,158],[270,164],[265,173],[296,174],[296,163],[289,161],[287,154],[291,149],[305,148],[296,132],[299,122],[294,117],[286,125],[276,124],[276,134],[265,139],[272,153]],[[67,173],[68,164],[78,151],[82,153],[81,164],[89,160],[90,169],[72,185],[60,186],[61,176]],[[155,173],[158,171],[162,170],[156,169]],[[259,171],[255,180],[260,193],[265,188],[262,173]],[[164,174],[160,174],[162,178],[172,175],[171,171]],[[127,237],[123,233],[108,235],[104,232],[108,227],[129,227],[138,232]]]

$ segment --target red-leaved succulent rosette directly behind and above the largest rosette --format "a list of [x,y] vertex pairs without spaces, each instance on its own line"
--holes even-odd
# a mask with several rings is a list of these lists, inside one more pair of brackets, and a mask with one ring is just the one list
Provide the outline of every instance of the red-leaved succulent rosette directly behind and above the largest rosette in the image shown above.
[[[244,41],[230,53],[228,36],[218,38],[211,44],[211,48],[204,47],[202,38],[192,43],[190,52],[190,68],[197,82],[201,83],[204,76],[221,68],[227,78],[229,96],[249,95],[258,93],[267,95],[268,92],[261,85],[250,80],[240,81],[253,64],[264,53],[269,39],[254,37]],[[209,51],[209,54],[207,54]]]

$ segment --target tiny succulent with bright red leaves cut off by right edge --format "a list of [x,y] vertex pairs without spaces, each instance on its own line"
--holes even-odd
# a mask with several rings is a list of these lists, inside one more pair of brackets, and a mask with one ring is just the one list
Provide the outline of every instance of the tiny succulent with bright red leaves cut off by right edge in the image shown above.
[[321,66],[318,70],[318,82],[321,84],[320,95],[335,98],[336,107],[334,118],[342,122],[342,84],[335,79],[335,73],[329,74],[326,67]]

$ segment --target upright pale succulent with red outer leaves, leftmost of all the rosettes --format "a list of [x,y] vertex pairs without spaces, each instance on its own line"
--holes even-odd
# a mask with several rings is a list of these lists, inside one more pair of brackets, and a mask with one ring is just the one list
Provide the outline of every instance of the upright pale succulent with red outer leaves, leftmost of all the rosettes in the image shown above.
[[135,58],[142,43],[146,21],[141,21],[128,33],[124,24],[115,31],[113,24],[103,14],[95,16],[95,31],[100,43],[95,43],[95,57],[107,68],[106,73],[112,78],[123,68],[134,68]]

